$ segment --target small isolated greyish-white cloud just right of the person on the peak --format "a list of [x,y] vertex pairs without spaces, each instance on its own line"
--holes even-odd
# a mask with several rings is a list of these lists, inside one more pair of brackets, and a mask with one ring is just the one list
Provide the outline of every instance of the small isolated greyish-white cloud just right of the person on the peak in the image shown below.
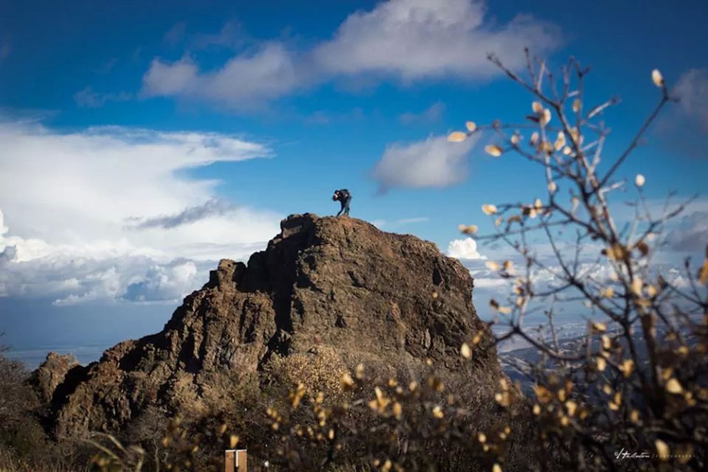
[[451,143],[445,136],[412,144],[391,144],[376,164],[373,178],[382,190],[392,187],[445,187],[467,177],[467,154],[478,136]]

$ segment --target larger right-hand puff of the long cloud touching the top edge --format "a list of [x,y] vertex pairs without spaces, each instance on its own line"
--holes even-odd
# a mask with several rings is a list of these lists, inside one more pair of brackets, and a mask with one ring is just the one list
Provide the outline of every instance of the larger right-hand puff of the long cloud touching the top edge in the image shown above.
[[390,0],[351,14],[333,40],[314,51],[333,74],[394,74],[404,80],[449,74],[486,77],[495,52],[510,67],[523,64],[524,47],[543,54],[558,42],[552,26],[519,15],[494,27],[486,4],[470,0]]

